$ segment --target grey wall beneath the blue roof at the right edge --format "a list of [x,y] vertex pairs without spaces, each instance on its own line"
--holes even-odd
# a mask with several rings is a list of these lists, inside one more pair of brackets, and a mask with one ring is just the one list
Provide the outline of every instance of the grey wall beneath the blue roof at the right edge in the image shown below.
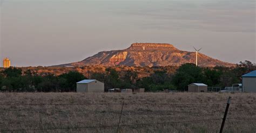
[[256,77],[242,78],[242,92],[255,92],[256,93]]

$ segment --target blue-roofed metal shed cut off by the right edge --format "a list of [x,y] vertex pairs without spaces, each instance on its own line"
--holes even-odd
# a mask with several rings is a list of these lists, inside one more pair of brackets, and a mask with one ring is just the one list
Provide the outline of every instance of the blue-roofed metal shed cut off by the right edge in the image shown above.
[[242,75],[242,92],[256,93],[256,70]]

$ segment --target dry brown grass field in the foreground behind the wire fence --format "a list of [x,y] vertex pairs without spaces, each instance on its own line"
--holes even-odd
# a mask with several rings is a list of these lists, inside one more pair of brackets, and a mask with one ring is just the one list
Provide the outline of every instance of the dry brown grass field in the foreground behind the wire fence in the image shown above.
[[[256,94],[0,93],[0,132],[256,132]],[[197,121],[198,120],[198,121]]]

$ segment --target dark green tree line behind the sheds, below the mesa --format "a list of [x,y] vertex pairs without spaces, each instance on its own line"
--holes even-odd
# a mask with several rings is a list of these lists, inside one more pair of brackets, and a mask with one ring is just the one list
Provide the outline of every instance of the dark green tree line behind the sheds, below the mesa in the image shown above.
[[[150,76],[139,78],[136,71],[125,71],[120,74],[113,68],[104,73],[92,73],[90,78],[105,83],[105,90],[112,88],[145,88],[147,92],[158,92],[165,89],[186,91],[187,85],[193,82],[205,83],[212,87],[226,87],[241,83],[241,75],[256,70],[250,61],[240,62],[235,67],[197,67],[194,64],[181,65],[175,73],[164,69],[154,71]],[[10,67],[0,72],[0,91],[2,92],[59,92],[65,89],[76,90],[76,82],[87,79],[82,73],[70,71],[62,75],[38,75],[30,69]]]

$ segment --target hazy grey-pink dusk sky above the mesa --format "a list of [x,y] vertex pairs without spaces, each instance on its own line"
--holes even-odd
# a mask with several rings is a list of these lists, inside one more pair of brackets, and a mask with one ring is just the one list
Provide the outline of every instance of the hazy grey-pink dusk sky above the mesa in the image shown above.
[[132,43],[170,43],[203,47],[227,62],[256,62],[255,12],[254,0],[2,0],[0,58],[49,66]]

